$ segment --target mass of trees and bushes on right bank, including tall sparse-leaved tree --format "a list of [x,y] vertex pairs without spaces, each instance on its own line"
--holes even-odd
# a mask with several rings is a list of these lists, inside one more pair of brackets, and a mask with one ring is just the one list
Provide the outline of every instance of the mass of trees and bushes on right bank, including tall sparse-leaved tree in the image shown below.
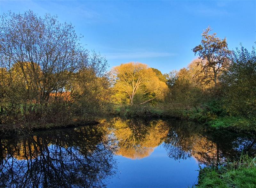
[[243,47],[231,52],[226,38],[220,39],[210,31],[208,27],[201,44],[193,49],[199,58],[187,68],[164,74],[169,92],[160,107],[163,116],[210,121],[216,128],[254,131],[255,48],[251,53]]

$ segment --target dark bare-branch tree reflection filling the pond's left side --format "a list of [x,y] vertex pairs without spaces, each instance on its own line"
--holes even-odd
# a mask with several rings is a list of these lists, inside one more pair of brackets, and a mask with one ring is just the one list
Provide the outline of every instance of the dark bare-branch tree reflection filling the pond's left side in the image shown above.
[[0,139],[0,187],[102,187],[115,173],[114,140],[100,126]]

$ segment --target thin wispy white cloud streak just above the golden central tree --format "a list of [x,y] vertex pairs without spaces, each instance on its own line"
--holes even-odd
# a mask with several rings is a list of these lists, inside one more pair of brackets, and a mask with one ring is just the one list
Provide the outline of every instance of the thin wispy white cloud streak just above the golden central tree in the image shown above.
[[167,56],[175,56],[174,53],[166,53],[166,52],[121,52],[121,53],[107,53],[105,54],[107,59],[135,59],[135,58],[151,58],[151,57],[167,57]]

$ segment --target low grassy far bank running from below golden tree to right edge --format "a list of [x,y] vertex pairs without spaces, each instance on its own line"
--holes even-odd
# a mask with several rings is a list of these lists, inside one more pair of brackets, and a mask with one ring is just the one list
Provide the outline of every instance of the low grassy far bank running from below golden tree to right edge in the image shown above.
[[209,128],[226,129],[236,132],[256,133],[256,124],[243,117],[228,115],[218,116],[211,111],[197,109],[164,109],[152,105],[122,105],[116,106],[114,115],[121,117],[140,118],[176,118],[203,123]]

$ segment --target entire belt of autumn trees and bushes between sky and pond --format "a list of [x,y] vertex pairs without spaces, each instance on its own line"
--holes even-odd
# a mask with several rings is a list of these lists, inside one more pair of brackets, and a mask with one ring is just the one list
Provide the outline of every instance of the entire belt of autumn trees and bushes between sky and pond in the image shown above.
[[256,51],[228,49],[208,27],[187,68],[130,62],[107,71],[74,27],[32,11],[0,20],[1,127],[67,125],[103,115],[178,117],[256,130]]

